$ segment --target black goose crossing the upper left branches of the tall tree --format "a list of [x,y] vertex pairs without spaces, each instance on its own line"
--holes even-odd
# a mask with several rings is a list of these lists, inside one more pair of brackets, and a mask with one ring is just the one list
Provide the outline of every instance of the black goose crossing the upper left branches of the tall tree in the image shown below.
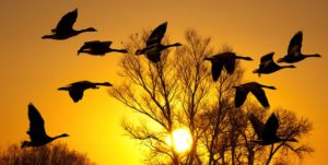
[[166,26],[167,26],[167,22],[164,22],[161,25],[159,25],[148,37],[148,39],[145,42],[145,47],[142,49],[138,49],[136,51],[136,55],[139,56],[139,55],[144,54],[145,57],[150,61],[155,63],[161,60],[161,51],[162,50],[165,50],[169,47],[181,46],[180,43],[175,43],[172,45],[162,45],[161,44],[161,40],[163,39],[164,34],[166,32]]

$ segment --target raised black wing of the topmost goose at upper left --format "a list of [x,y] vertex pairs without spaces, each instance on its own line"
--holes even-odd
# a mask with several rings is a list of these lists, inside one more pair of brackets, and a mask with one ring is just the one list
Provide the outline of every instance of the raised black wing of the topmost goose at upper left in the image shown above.
[[55,31],[56,32],[67,32],[73,30],[73,24],[75,23],[78,19],[78,9],[67,13],[61,17],[61,20],[58,22]]

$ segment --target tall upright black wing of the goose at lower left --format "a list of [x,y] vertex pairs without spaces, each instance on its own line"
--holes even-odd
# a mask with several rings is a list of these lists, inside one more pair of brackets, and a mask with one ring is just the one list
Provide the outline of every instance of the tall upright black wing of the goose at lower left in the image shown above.
[[33,104],[28,105],[28,119],[30,130],[27,131],[27,134],[32,141],[39,141],[39,139],[47,135],[45,131],[45,121]]

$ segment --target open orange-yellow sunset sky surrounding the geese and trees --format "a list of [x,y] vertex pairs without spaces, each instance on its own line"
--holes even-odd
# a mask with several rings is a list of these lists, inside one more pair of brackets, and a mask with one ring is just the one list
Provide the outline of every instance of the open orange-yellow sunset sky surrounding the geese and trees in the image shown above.
[[[304,139],[315,149],[304,164],[324,164],[328,155],[328,10],[325,0],[2,0],[0,5],[0,149],[26,140],[27,104],[33,103],[46,121],[50,135],[67,132],[59,141],[86,153],[98,164],[142,164],[138,142],[125,135],[120,126],[133,113],[108,95],[108,89],[85,92],[74,104],[58,87],[80,80],[119,84],[122,55],[105,57],[77,56],[87,40],[112,40],[120,48],[129,35],[151,30],[167,21],[166,34],[184,43],[186,30],[212,37],[219,49],[226,44],[255,62],[242,62],[245,82],[274,85],[268,91],[270,105],[308,118],[314,130]],[[40,37],[56,26],[59,19],[79,9],[75,28],[93,26],[67,40]],[[274,59],[286,54],[291,37],[303,31],[303,52],[320,54],[306,59],[296,69],[281,70],[258,78],[251,71],[259,58],[274,51]],[[326,66],[325,66],[326,63]],[[129,157],[129,158],[127,158]]]

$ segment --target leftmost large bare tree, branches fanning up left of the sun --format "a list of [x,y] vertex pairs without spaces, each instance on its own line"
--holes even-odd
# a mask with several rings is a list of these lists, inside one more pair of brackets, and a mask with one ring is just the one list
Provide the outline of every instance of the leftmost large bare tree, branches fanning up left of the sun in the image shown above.
[[[136,49],[143,46],[148,33],[142,34],[142,36],[132,35],[130,37],[131,42],[127,45],[129,52],[134,52]],[[160,62],[152,63],[144,57],[127,54],[121,62],[121,76],[126,79],[126,82],[114,87],[110,94],[126,106],[159,125],[159,130],[151,130],[147,125],[134,127],[127,121],[122,123],[125,130],[133,139],[141,140],[151,150],[152,162],[155,162],[154,157],[167,156],[174,164],[179,164],[174,144],[167,146],[165,142],[166,135],[171,134],[174,129],[177,104],[174,98],[178,92],[177,79],[174,73],[176,61],[167,57],[167,50],[163,51],[161,56]],[[173,142],[173,139],[171,141]]]

